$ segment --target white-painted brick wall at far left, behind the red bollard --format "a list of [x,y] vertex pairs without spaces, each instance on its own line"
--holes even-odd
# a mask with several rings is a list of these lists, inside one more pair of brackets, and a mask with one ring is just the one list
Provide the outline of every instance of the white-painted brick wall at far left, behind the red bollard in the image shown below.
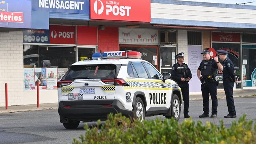
[[8,105],[23,104],[22,31],[0,33],[0,107],[5,106],[5,83]]

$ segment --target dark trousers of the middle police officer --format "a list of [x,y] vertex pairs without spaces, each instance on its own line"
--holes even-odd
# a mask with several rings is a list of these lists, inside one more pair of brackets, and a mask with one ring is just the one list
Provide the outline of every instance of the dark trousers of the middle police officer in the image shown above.
[[217,114],[218,100],[217,100],[217,85],[213,81],[204,81],[201,85],[203,96],[203,111],[209,114],[209,93],[211,94],[211,113]]

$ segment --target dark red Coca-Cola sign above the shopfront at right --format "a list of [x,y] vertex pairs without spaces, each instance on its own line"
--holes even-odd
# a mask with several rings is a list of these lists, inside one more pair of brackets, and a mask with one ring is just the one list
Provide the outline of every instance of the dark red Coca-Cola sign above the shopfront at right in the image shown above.
[[240,33],[211,33],[211,41],[240,42]]

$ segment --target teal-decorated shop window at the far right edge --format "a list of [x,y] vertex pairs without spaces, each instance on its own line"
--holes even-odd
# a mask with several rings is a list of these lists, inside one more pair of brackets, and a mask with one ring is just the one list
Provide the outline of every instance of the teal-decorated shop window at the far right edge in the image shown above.
[[256,87],[256,45],[242,45],[243,86]]

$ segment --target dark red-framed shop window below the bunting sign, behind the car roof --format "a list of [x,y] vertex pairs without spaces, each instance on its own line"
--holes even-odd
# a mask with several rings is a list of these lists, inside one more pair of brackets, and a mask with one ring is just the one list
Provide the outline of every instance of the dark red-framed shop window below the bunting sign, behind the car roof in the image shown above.
[[141,59],[148,61],[158,69],[158,46],[121,45],[120,50],[132,50],[141,53]]

